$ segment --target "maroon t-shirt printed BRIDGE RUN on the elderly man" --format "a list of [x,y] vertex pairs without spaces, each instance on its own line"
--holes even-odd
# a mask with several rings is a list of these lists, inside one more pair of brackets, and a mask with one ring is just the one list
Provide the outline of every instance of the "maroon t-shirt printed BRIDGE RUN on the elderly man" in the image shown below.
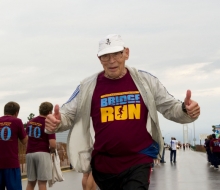
[[95,130],[92,157],[103,173],[120,173],[132,166],[151,163],[139,153],[152,144],[146,129],[148,109],[129,72],[117,80],[97,79],[91,107]]

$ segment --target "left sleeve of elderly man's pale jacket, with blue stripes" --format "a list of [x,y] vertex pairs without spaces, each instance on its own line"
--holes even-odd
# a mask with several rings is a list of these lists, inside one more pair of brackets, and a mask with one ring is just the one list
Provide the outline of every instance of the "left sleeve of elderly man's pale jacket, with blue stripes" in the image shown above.
[[56,132],[69,130],[74,126],[74,121],[77,113],[78,97],[80,86],[76,88],[69,100],[60,108],[61,123]]

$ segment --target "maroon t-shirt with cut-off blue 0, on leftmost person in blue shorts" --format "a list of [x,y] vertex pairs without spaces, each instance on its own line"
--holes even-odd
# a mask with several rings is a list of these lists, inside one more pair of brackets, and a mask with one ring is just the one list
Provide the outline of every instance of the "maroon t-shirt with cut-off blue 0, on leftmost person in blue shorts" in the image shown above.
[[0,169],[20,168],[18,139],[26,137],[23,123],[12,116],[0,117]]

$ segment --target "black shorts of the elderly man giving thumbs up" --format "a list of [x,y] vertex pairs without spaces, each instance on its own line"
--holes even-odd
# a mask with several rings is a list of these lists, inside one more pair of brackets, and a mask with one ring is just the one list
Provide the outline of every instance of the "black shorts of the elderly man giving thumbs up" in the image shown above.
[[148,190],[151,164],[133,166],[120,174],[98,172],[92,166],[93,178],[101,190]]

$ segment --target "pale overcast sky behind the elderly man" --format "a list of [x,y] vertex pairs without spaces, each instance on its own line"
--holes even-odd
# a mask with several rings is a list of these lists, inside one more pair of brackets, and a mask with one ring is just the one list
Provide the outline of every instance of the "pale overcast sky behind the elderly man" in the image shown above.
[[[219,0],[1,0],[0,115],[9,101],[20,104],[24,123],[41,102],[62,106],[102,70],[100,39],[120,34],[128,66],[156,76],[176,99],[192,91],[201,115],[187,125],[188,138],[195,131],[199,143],[220,124],[219,7]],[[159,120],[165,142],[183,141],[183,125]]]

